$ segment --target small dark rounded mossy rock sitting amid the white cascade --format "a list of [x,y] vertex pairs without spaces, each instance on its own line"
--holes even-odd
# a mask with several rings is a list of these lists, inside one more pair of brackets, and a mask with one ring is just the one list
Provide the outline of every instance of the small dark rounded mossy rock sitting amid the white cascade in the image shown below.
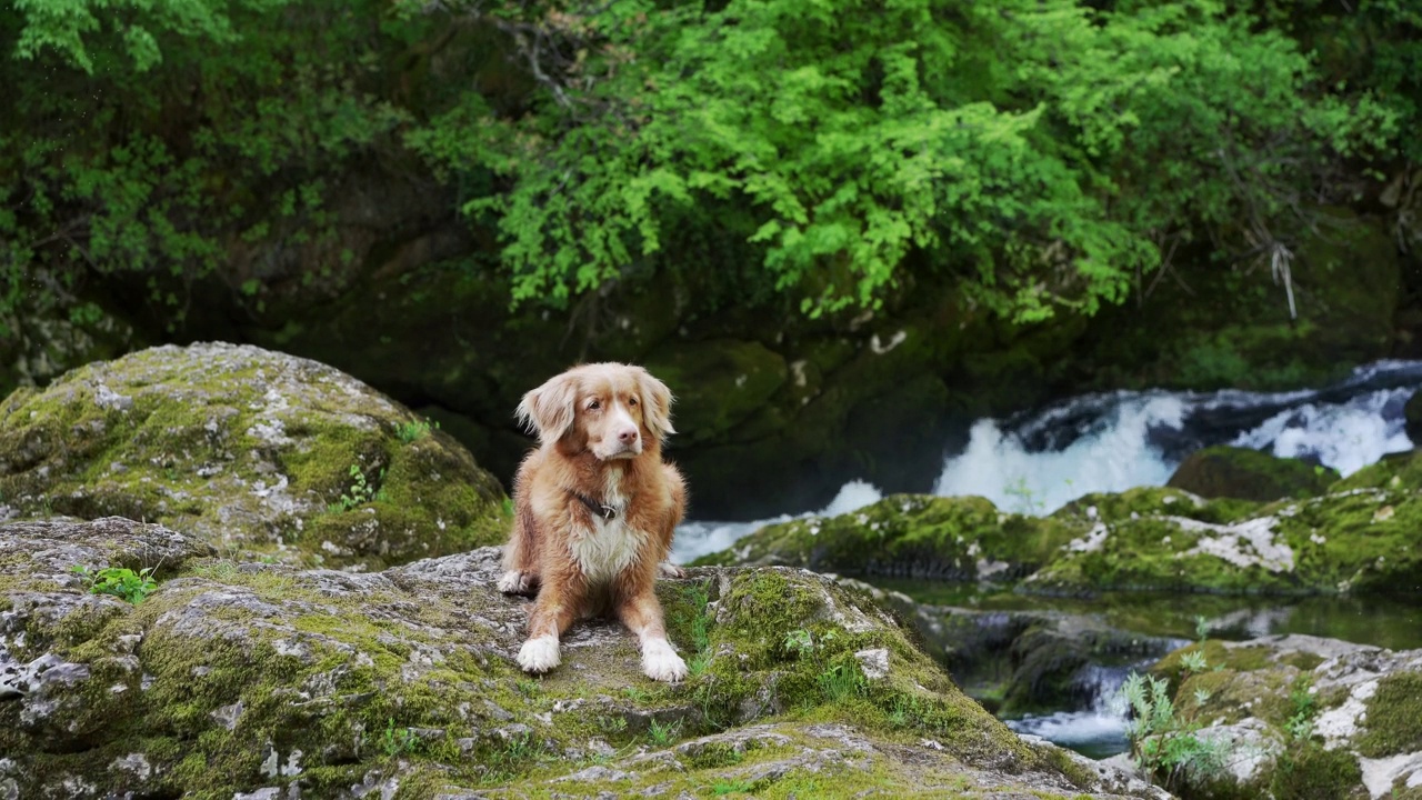
[[1338,478],[1338,471],[1331,467],[1220,444],[1189,454],[1166,485],[1207,498],[1270,502],[1317,497]]

